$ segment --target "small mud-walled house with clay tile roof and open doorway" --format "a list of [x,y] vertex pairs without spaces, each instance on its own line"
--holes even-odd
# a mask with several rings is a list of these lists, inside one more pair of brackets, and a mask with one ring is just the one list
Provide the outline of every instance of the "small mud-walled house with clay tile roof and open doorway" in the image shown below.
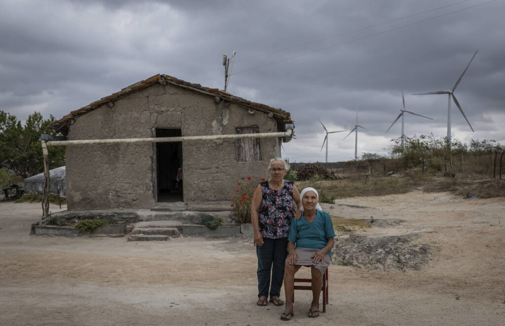
[[[290,114],[222,90],[156,75],[54,122],[68,140],[274,133]],[[231,200],[235,181],[268,176],[291,137],[67,145],[69,210]]]

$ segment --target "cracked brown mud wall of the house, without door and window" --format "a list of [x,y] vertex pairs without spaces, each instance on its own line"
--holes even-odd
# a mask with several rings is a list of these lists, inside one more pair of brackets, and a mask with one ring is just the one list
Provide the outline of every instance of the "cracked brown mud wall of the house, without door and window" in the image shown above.
[[[156,128],[182,136],[235,134],[236,127],[277,132],[264,113],[172,84],[155,84],[75,119],[69,140],[152,137]],[[230,200],[234,182],[268,176],[268,161],[280,155],[278,138],[260,141],[263,161],[237,162],[236,141],[182,143],[184,201]],[[156,146],[150,143],[67,148],[69,209],[149,208],[156,205]]]

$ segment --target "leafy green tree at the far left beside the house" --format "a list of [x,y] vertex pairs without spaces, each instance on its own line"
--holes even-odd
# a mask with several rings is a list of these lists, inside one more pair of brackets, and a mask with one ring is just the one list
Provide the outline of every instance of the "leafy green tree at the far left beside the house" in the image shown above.
[[[43,171],[40,134],[56,135],[47,126],[55,121],[50,116],[44,120],[39,112],[34,112],[21,125],[16,116],[0,111],[0,168],[6,167],[22,178],[28,178]],[[49,147],[49,166],[65,165],[65,147]]]

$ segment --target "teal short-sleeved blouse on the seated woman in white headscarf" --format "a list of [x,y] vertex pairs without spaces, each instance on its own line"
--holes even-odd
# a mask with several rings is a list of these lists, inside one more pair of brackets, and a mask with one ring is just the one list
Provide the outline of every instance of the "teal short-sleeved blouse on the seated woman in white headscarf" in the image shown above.
[[[335,237],[330,214],[317,210],[316,217],[309,223],[304,215],[293,219],[287,240],[295,243],[295,248],[323,249],[329,238]],[[331,251],[329,252],[331,256]]]

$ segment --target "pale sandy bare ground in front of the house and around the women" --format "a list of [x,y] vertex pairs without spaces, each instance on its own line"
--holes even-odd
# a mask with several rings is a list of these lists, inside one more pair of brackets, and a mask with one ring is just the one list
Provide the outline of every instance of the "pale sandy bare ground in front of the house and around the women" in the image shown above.
[[[308,318],[311,293],[296,291],[291,324],[505,324],[505,198],[416,191],[323,208],[349,218],[405,220],[358,232],[427,232],[422,241],[441,250],[421,271],[331,265],[327,312]],[[29,236],[40,213],[40,204],[0,203],[1,325],[283,324],[284,307],[256,305],[251,236],[168,242]]]

